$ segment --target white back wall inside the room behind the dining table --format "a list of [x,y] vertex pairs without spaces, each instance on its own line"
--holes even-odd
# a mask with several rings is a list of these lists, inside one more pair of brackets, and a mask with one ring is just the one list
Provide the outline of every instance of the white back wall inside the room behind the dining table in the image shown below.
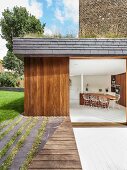
[[[71,76],[70,86],[70,100],[79,100],[79,93],[81,92],[81,76]],[[111,92],[111,75],[104,76],[84,76],[84,91],[86,84],[89,84],[89,92],[99,92],[102,89],[109,88]]]

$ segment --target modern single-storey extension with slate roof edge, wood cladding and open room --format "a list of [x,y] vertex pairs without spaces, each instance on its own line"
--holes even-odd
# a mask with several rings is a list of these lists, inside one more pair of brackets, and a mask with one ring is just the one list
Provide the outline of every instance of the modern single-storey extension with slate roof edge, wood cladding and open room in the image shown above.
[[79,108],[83,121],[126,122],[127,39],[14,38],[13,50],[25,62],[24,115],[69,116]]

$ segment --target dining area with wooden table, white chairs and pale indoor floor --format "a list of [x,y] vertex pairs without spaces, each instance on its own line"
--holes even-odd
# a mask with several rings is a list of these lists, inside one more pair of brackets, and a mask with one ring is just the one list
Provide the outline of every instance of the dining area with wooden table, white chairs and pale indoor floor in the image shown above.
[[124,122],[126,107],[119,104],[120,95],[112,92],[84,92],[79,100],[70,101],[72,122]]

